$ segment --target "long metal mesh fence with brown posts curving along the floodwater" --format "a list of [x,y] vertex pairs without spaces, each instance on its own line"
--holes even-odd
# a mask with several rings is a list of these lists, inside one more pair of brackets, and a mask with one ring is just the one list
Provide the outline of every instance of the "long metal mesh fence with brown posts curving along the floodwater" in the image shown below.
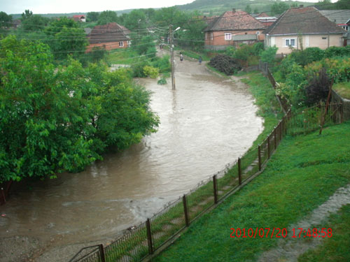
[[[169,203],[151,219],[130,229],[110,245],[82,249],[70,262],[137,262],[152,256],[206,210],[258,174],[281,143],[283,136],[315,130],[321,116],[325,116],[325,124],[342,122],[342,104],[332,104],[328,107],[328,112],[324,111],[323,105],[293,114],[288,109],[279,124],[258,147],[246,152],[223,172],[202,181],[188,194]],[[83,254],[87,250],[87,254]]]

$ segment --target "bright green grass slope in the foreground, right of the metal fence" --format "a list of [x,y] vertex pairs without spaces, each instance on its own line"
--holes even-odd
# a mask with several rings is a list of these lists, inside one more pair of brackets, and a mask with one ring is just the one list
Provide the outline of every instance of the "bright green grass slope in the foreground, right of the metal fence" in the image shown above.
[[[284,138],[259,177],[195,221],[154,261],[257,261],[276,247],[277,238],[230,238],[230,228],[288,228],[304,218],[350,182],[349,143],[350,122],[328,127],[321,136],[316,131]],[[342,226],[337,216],[349,221],[348,212],[344,208],[333,217],[332,227],[346,232],[349,224]],[[321,257],[331,246],[349,247],[349,238],[333,240],[337,244],[325,243],[310,256]]]

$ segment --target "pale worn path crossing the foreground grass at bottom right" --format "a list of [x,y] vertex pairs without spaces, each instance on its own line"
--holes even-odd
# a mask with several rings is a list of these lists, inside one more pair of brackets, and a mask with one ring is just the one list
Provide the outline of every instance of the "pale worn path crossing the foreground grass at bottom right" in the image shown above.
[[[328,201],[316,208],[311,214],[288,228],[288,233],[292,228],[317,228],[327,221],[330,214],[336,213],[342,205],[350,204],[350,184],[335,191]],[[297,231],[299,233],[299,231]],[[307,252],[308,249],[321,245],[323,238],[281,238],[278,247],[262,253],[259,262],[297,261],[297,257]]]

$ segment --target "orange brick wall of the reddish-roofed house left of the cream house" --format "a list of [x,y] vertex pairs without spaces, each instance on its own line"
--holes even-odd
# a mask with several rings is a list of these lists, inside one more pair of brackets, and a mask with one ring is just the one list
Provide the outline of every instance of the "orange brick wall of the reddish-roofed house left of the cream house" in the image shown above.
[[[211,50],[224,50],[229,45],[236,45],[236,42],[242,43],[241,41],[233,41],[233,40],[225,40],[225,33],[231,33],[232,36],[245,35],[245,34],[257,34],[258,33],[258,41],[263,41],[265,35],[262,34],[263,30],[245,30],[245,31],[214,31],[214,32],[206,32],[205,36],[205,47]],[[211,37],[211,34],[213,37]],[[213,40],[211,40],[213,38]],[[247,41],[247,43],[251,41]],[[237,43],[237,44],[239,44]]]

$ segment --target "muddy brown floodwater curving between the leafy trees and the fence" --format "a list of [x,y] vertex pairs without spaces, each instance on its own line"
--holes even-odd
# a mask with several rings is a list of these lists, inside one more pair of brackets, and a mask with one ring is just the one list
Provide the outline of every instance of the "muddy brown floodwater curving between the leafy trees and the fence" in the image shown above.
[[158,132],[82,173],[13,192],[0,207],[1,261],[67,261],[92,240],[109,242],[223,170],[262,131],[246,86],[197,61],[176,57],[175,91],[170,79],[139,81],[153,92]]

